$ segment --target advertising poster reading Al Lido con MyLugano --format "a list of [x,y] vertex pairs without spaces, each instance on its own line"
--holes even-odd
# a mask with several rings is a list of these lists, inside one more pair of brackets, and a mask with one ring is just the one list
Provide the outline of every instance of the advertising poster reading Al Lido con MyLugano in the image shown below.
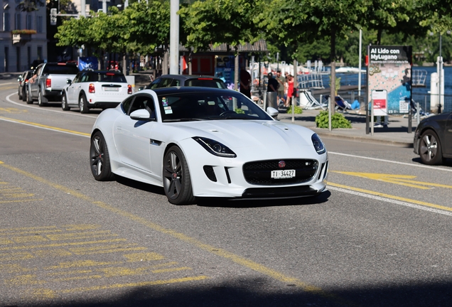
[[411,46],[369,45],[367,54],[367,95],[369,101],[376,95],[375,115],[407,114],[411,101]]

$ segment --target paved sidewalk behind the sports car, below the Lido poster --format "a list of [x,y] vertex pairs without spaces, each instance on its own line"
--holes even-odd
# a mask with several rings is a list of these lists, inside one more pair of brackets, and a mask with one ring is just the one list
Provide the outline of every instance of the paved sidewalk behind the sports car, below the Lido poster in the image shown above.
[[[374,134],[366,134],[365,114],[354,112],[343,113],[344,117],[352,123],[352,129],[320,129],[316,127],[316,115],[320,110],[305,110],[303,114],[294,115],[294,124],[306,126],[315,131],[319,136],[328,138],[351,139],[354,141],[365,141],[371,143],[391,144],[395,146],[413,147],[414,131],[416,130],[416,119],[411,121],[411,133],[408,133],[408,118],[402,115],[389,116],[387,128],[374,128]],[[285,109],[279,109],[278,119],[281,122],[292,122],[292,114],[287,114]],[[370,130],[370,129],[369,129]]]

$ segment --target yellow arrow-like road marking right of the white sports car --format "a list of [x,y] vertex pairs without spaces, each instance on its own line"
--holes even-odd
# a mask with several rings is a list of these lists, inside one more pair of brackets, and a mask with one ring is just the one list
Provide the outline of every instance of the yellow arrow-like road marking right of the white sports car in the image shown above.
[[[452,188],[452,185],[443,185],[441,183],[427,183],[424,181],[413,181],[410,179],[416,178],[416,176],[409,175],[392,175],[392,174],[384,174],[384,173],[355,173],[355,172],[343,172],[343,171],[331,171],[332,173],[341,173],[350,176],[357,176],[360,178],[367,178],[376,181],[383,181],[387,183],[395,183],[398,185],[406,185],[411,188],[420,188],[420,189],[430,189],[431,187],[437,188]],[[425,186],[426,185],[426,186]]]

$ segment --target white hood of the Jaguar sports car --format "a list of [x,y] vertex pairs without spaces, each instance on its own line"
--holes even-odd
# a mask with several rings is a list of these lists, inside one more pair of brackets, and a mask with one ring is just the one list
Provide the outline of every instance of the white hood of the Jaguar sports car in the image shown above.
[[314,132],[303,126],[284,124],[277,121],[216,120],[209,122],[183,122],[174,124],[181,127],[186,138],[203,136],[220,141],[231,149],[269,146],[281,150],[298,146],[313,146]]

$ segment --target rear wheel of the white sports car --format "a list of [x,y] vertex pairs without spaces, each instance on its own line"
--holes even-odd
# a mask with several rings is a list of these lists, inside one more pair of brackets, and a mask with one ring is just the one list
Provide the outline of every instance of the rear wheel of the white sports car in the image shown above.
[[111,181],[114,179],[107,143],[105,143],[105,138],[100,131],[97,131],[91,137],[90,168],[92,176],[97,181]]

